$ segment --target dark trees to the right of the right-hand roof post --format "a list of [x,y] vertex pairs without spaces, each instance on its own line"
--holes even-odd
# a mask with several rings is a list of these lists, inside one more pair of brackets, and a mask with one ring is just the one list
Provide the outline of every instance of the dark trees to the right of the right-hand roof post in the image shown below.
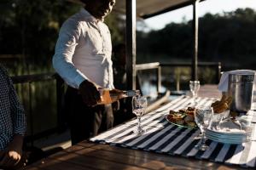
[[[232,59],[239,63],[256,54],[256,12],[236,9],[223,16],[207,14],[200,20],[200,56],[214,61]],[[231,65],[226,63],[226,65]],[[248,66],[249,63],[247,63]]]

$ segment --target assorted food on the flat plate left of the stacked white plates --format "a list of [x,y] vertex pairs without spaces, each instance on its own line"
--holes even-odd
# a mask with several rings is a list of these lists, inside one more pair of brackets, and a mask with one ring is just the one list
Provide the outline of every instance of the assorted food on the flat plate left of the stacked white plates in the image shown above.
[[193,107],[188,107],[187,109],[182,109],[179,111],[169,111],[169,115],[167,115],[166,118],[169,122],[194,128],[196,127],[194,117],[195,111],[196,110]]

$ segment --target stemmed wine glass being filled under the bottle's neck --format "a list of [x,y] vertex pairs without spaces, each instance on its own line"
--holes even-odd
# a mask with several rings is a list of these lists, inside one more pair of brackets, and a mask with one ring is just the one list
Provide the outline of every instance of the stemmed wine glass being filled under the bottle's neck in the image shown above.
[[141,116],[147,108],[147,103],[147,98],[144,96],[134,96],[132,98],[132,112],[137,116],[137,129],[133,131],[134,133],[141,134],[145,132],[141,127]]

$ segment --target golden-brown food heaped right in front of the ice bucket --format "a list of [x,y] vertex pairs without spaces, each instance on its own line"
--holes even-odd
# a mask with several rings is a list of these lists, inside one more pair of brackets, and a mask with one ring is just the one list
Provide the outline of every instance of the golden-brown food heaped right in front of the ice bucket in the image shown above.
[[223,95],[220,100],[215,101],[214,103],[212,103],[211,106],[213,108],[214,113],[222,113],[230,109],[231,102],[232,102],[232,97]]

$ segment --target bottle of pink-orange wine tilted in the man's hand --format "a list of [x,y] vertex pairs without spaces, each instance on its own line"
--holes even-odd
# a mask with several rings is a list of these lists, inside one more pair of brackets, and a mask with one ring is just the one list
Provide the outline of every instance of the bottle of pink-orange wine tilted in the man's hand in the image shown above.
[[98,101],[97,105],[105,105],[105,104],[111,104],[119,99],[132,97],[140,95],[140,90],[119,90],[119,89],[113,89],[110,90],[108,88],[100,88],[99,92],[101,94],[101,99]]

